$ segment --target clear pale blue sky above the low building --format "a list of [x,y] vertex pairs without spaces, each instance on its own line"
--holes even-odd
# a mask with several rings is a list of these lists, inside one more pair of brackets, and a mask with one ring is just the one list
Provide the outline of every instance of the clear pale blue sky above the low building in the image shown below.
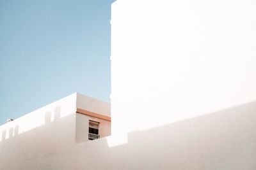
[[0,1],[0,125],[74,92],[109,102],[112,1]]

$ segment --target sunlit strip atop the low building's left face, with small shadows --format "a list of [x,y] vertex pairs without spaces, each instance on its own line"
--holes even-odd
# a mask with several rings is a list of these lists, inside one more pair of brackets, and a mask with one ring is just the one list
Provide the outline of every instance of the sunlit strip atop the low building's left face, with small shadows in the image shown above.
[[[1,125],[0,133],[4,131],[4,139],[8,139],[12,136],[31,131],[36,127],[54,122],[60,118],[67,117],[72,113],[76,113],[76,99],[77,94],[75,93],[54,103],[48,104],[38,110],[32,111],[31,113],[17,118],[10,123]],[[17,129],[14,132],[15,127],[17,127]],[[0,141],[3,140],[2,138],[3,135],[0,136]]]

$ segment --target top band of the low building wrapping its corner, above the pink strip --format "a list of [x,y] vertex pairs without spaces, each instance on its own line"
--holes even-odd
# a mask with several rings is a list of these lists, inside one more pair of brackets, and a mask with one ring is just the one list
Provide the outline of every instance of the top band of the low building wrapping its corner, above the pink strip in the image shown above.
[[[1,125],[0,134],[4,132],[4,135],[0,135],[0,141],[3,140],[3,136],[4,139],[8,139],[15,135],[31,131],[36,127],[41,127],[60,118],[72,115],[76,113],[77,108],[110,117],[109,103],[84,96],[83,94],[74,93],[38,110],[32,111],[23,117],[17,118],[8,124]],[[110,127],[108,127],[108,130],[109,128]]]

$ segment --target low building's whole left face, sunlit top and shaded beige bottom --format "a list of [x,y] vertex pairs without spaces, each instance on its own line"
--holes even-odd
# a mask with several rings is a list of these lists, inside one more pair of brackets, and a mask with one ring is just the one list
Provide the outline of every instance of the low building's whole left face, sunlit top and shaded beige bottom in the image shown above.
[[[29,162],[74,148],[75,113],[76,94],[72,94],[1,125],[0,169],[31,169]],[[12,137],[8,135],[11,129]],[[41,161],[38,169],[45,166]]]

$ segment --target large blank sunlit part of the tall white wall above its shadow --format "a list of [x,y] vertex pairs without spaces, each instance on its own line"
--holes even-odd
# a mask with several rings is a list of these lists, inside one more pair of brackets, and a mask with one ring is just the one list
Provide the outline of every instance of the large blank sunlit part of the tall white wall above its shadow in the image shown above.
[[112,134],[256,100],[256,1],[118,0]]

